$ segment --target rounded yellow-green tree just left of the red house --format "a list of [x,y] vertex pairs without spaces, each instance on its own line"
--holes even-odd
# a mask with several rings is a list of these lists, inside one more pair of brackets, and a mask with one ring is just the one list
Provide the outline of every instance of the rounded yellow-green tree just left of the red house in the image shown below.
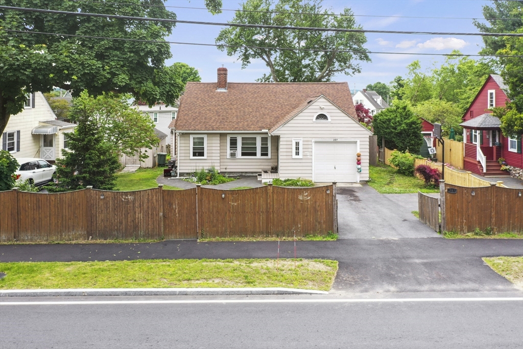
[[449,135],[450,128],[454,128],[454,132],[459,136],[463,128],[459,126],[462,122],[461,117],[463,113],[461,109],[453,103],[440,99],[429,99],[414,106],[414,114],[424,118],[429,122],[437,122],[441,124],[444,136]]

